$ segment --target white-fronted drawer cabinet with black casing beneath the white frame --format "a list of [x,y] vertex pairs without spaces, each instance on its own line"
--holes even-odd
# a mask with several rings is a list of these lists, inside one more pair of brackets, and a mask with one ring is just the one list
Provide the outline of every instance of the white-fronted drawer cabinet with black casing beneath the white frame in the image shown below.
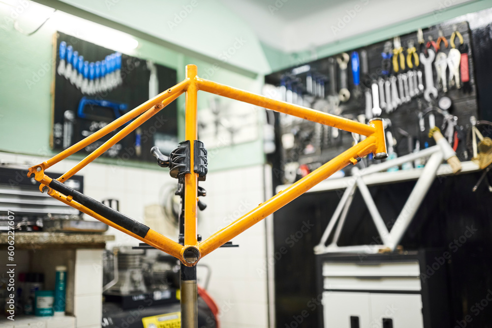
[[324,328],[448,327],[445,266],[422,277],[434,257],[435,251],[319,255]]

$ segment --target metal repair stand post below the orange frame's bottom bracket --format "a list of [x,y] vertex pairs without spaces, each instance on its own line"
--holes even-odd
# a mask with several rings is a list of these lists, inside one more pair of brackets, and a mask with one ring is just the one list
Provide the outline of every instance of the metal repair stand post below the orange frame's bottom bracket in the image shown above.
[[181,264],[181,328],[198,328],[196,266]]

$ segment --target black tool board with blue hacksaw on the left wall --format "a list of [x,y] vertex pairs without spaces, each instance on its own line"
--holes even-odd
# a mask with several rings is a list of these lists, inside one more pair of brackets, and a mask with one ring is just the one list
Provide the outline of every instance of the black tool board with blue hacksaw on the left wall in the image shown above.
[[[50,136],[50,145],[53,150],[66,149],[146,102],[152,93],[149,92],[151,88],[156,95],[176,84],[176,70],[137,57],[119,54],[121,55],[121,69],[120,71],[115,70],[111,75],[115,81],[119,82],[104,84],[103,78],[100,78],[98,91],[94,89],[89,92],[86,90],[87,85],[81,87],[80,81],[77,82],[77,78],[82,81],[84,79],[83,68],[80,70],[82,74],[78,73],[75,70],[75,66],[78,65],[73,62],[73,59],[71,61],[74,64],[72,74],[76,77],[71,79],[72,75],[60,74],[60,45],[62,42],[66,44],[66,47],[71,46],[73,52],[77,51],[78,55],[83,55],[84,61],[89,63],[101,62],[108,59],[108,55],[118,54],[62,32],[55,34],[54,62],[56,65],[54,67],[53,120]],[[69,60],[67,55],[64,58],[66,70]],[[105,76],[107,79],[110,77],[109,74]],[[90,78],[88,80],[90,81]],[[82,155],[91,153],[121,131],[124,126],[126,125],[93,142],[78,153]],[[155,159],[150,153],[151,148],[156,145],[162,153],[169,154],[178,144],[177,133],[177,107],[176,102],[173,102],[124,137],[102,156],[120,161],[154,162]]]

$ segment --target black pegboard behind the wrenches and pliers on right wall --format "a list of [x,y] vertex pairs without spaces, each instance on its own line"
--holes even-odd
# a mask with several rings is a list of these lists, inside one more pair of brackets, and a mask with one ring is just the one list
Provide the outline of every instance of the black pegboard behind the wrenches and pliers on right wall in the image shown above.
[[[430,38],[433,39],[434,41],[437,40],[439,37],[439,30],[442,31],[443,36],[446,37],[448,41],[450,40],[453,32],[455,30],[458,30],[463,37],[463,42],[469,45],[468,64],[469,64],[471,89],[469,90],[469,92],[465,92],[462,87],[461,89],[448,87],[447,92],[443,92],[442,90],[439,90],[439,94],[437,97],[437,100],[442,96],[447,96],[451,99],[453,105],[449,110],[449,112],[452,115],[457,116],[458,118],[457,129],[460,129],[461,127],[463,131],[463,135],[466,135],[466,132],[469,130],[471,126],[470,117],[475,116],[478,118],[479,116],[478,105],[477,105],[477,92],[476,92],[475,77],[474,77],[474,67],[473,67],[472,52],[471,52],[472,47],[470,44],[471,42],[470,28],[467,22],[461,22],[458,24],[442,24],[442,25],[432,26],[427,29],[423,29],[425,42],[427,43],[427,41]],[[419,43],[417,41],[417,31],[405,35],[400,35],[401,45],[404,49],[403,54],[405,55],[405,61],[407,55],[406,49],[409,40],[413,40],[415,47],[417,48],[417,54],[420,53]],[[354,95],[354,90],[356,89],[356,87],[353,83],[352,70],[350,66],[351,62],[350,61],[348,62],[348,68],[347,68],[348,89],[351,91],[351,95],[348,101],[340,102],[339,104],[339,109],[341,109],[341,113],[339,113],[340,116],[344,116],[353,120],[358,120],[358,115],[365,113],[366,100],[365,100],[364,90],[368,88],[370,90],[371,84],[382,76],[381,53],[383,52],[384,45],[387,41],[391,41],[393,44],[393,39],[390,39],[390,40],[384,40],[378,43],[374,43],[365,47],[361,47],[358,49],[353,49],[351,51],[347,51],[347,54],[349,55],[351,55],[354,51],[358,52],[359,55],[361,54],[362,50],[365,50],[367,52],[369,74],[363,76],[363,74],[361,73],[360,76],[361,92],[359,93],[359,97],[356,97]],[[460,44],[458,37],[455,38],[455,43],[457,46]],[[448,48],[444,48],[444,45],[441,42],[440,51],[444,52],[447,55],[450,49],[451,49],[451,45],[449,45]],[[281,80],[288,77],[291,81],[298,82],[297,85],[302,87],[302,93],[304,96],[307,94],[307,88],[306,88],[307,75],[308,74],[317,75],[317,76],[324,77],[325,89],[326,89],[325,94],[328,95],[330,92],[329,90],[330,90],[330,83],[331,83],[331,81],[329,81],[329,61],[332,60],[330,58],[336,59],[337,56],[339,55],[321,58],[299,67],[293,67],[276,73],[272,73],[265,77],[265,82],[278,87],[280,85]],[[339,89],[340,71],[338,65],[336,65],[336,68],[337,68],[337,85]],[[423,64],[421,63],[419,67],[417,68],[414,67],[414,69],[421,70],[423,72],[423,82],[425,85],[426,83],[425,83],[425,73],[424,73]],[[392,71],[393,71],[393,67],[392,67]],[[408,71],[408,68],[405,71],[400,71],[399,73],[406,72],[406,71]],[[397,73],[395,72],[390,72],[390,73],[391,75],[395,75],[395,76],[397,75]],[[449,70],[447,76],[449,76]],[[434,66],[433,66],[433,80],[435,85],[436,70]],[[433,102],[434,106],[437,106],[437,100]],[[319,99],[316,101],[319,101]],[[304,101],[304,106],[317,109],[319,103],[316,103],[316,101],[313,103]],[[406,134],[408,134],[411,137],[411,144],[413,146],[415,145],[416,140],[419,140],[421,149],[435,144],[434,140],[428,136],[429,122],[428,122],[427,115],[425,116],[425,131],[422,132],[419,126],[418,113],[422,112],[423,110],[425,111],[425,109],[427,108],[429,108],[429,103],[424,100],[424,97],[421,94],[418,97],[412,98],[410,102],[403,103],[397,109],[395,109],[390,113],[387,113],[383,109],[380,117],[389,119],[391,121],[391,126],[387,128],[387,131],[391,131],[391,133],[393,134],[393,136],[397,141],[397,144],[395,145],[395,152],[398,154],[398,156],[403,156],[408,154],[410,148],[408,137],[405,137],[405,135],[400,131],[400,129],[402,129]],[[277,150],[277,155],[279,157],[279,163],[281,166],[280,172],[288,172],[289,169],[286,168],[286,165],[288,165],[289,163],[294,163],[295,165],[306,164],[309,170],[312,171],[313,169],[317,168],[321,164],[324,164],[329,160],[333,159],[334,157],[336,157],[337,155],[339,155],[340,153],[351,147],[354,143],[352,134],[339,130],[339,134],[337,138],[332,138],[330,142],[326,144],[322,144],[318,147],[313,146],[313,136],[316,134],[316,129],[320,129],[319,128],[320,124],[313,123],[307,120],[301,120],[301,119],[294,119],[292,120],[291,123],[281,124],[280,123],[281,115],[282,114],[277,115],[277,118],[280,117],[280,119],[277,119],[276,121],[277,137],[279,138],[278,140],[279,147]],[[441,128],[442,123],[443,123],[442,116],[435,114],[435,125]],[[294,136],[294,138],[292,138],[292,135]],[[285,140],[282,140],[282,138],[285,138],[285,136],[290,136],[286,139],[289,140],[288,141],[289,143],[292,142],[294,143],[293,146],[292,144],[290,145],[292,147],[289,146],[287,147],[287,149],[286,147],[283,146],[283,142],[285,142]],[[471,158],[471,153],[466,148],[466,142],[464,140],[460,140],[460,142],[458,143],[457,155],[459,156],[461,161],[469,160]],[[372,163],[377,163],[377,162],[379,161],[371,161],[370,159],[367,158],[364,160],[365,165],[370,165]],[[297,178],[299,178],[299,176]],[[284,179],[284,182],[292,182],[292,181],[286,181]]]

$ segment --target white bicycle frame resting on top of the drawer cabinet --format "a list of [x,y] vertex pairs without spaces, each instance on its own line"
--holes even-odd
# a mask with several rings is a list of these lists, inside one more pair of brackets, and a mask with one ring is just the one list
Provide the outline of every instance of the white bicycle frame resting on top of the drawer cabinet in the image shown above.
[[[368,168],[359,170],[357,167],[354,167],[354,169],[352,170],[353,179],[350,180],[350,183],[345,189],[345,192],[343,193],[340,199],[340,202],[335,210],[335,213],[330,219],[330,222],[328,223],[328,226],[325,232],[323,233],[323,236],[321,237],[320,243],[314,247],[314,252],[316,254],[339,253],[339,252],[349,252],[349,253],[364,252],[367,254],[374,254],[374,253],[378,253],[382,249],[389,249],[391,251],[394,251],[398,246],[398,244],[400,243],[401,238],[403,237],[403,234],[405,233],[408,225],[410,224],[413,217],[415,216],[415,213],[419,209],[422,200],[424,199],[427,192],[429,191],[431,184],[434,181],[434,178],[436,177],[437,170],[441,165],[442,161],[444,159],[449,158],[450,150],[454,154],[454,151],[451,149],[449,143],[447,143],[447,141],[444,142],[442,141],[437,142],[437,145],[421,150],[418,153],[408,154],[391,161],[386,161],[381,164],[371,165]],[[370,195],[368,186],[364,181],[364,177],[369,174],[377,173],[380,171],[386,171],[388,168],[396,165],[401,165],[406,162],[413,162],[419,158],[427,158],[427,157],[429,157],[429,160],[427,161],[424,168],[421,169],[421,174],[419,179],[417,180],[417,183],[415,184],[415,187],[413,188],[412,192],[410,193],[410,196],[408,197],[405,205],[403,206],[400,215],[395,220],[395,223],[391,228],[391,231],[389,231],[385,222],[381,218],[379,211],[377,210],[374,200]],[[452,173],[451,168],[449,168],[449,173]],[[337,245],[341,230],[343,228],[343,224],[345,223],[345,219],[347,218],[347,213],[350,208],[350,204],[352,203],[352,199],[357,187],[359,188],[362,194],[362,198],[364,199],[364,202],[368,207],[369,214],[372,217],[372,220],[374,221],[376,229],[381,238],[380,240],[382,242],[382,245],[380,244],[357,245],[357,246]],[[326,246],[326,243],[328,242],[328,239],[331,236],[335,226],[337,226],[337,228],[333,236],[333,240],[328,246]]]

